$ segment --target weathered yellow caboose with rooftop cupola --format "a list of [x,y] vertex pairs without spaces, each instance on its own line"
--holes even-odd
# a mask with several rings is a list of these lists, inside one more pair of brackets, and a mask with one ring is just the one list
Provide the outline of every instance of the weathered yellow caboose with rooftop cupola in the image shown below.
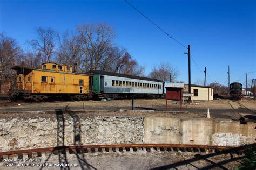
[[12,69],[17,70],[17,89],[12,98],[40,102],[55,97],[77,101],[92,97],[92,77],[73,73],[72,66],[48,62],[41,69],[18,66]]

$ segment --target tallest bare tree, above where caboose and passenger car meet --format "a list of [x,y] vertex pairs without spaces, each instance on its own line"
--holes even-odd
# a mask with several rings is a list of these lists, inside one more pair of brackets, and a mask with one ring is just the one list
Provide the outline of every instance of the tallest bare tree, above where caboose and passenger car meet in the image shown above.
[[101,69],[112,48],[113,28],[104,23],[83,24],[77,26],[77,31],[83,51],[82,69]]

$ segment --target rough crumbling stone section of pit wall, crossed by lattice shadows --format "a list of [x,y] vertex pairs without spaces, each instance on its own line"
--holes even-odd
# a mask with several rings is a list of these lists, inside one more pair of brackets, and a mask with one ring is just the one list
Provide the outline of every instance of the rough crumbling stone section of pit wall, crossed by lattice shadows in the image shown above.
[[144,125],[141,117],[60,117],[0,119],[0,152],[8,150],[55,147],[62,145],[142,143]]

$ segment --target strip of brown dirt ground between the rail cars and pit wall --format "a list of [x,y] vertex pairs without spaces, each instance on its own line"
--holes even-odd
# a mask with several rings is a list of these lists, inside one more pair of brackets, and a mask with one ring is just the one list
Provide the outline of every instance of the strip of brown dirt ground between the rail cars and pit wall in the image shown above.
[[[165,99],[135,99],[134,110],[165,111]],[[82,101],[82,102],[45,102],[45,103],[20,103],[20,105],[1,106],[2,112],[23,111],[54,111],[68,106],[71,110],[119,110],[131,109],[131,100],[111,101]],[[167,101],[168,111],[180,111],[180,102]],[[182,111],[187,111],[196,117],[205,117],[207,108],[213,118],[228,118],[238,120],[241,116],[256,121],[256,101],[242,99],[240,101],[213,100],[200,101],[193,104],[182,105]]]

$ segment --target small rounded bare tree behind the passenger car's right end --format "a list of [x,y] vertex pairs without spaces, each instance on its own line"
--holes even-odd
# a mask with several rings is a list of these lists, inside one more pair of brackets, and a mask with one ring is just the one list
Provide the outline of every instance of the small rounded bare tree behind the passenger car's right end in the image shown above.
[[161,81],[175,81],[179,76],[179,70],[177,67],[173,67],[170,63],[161,62],[158,66],[154,66],[149,76],[153,79]]

